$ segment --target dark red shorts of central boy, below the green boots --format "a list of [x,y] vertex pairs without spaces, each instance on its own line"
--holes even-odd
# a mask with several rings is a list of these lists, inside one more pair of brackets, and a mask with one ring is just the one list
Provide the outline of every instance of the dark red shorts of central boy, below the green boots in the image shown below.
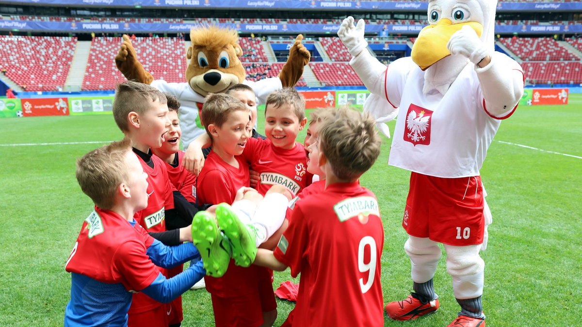
[[258,292],[246,296],[219,297],[211,294],[216,327],[253,327],[262,325]]

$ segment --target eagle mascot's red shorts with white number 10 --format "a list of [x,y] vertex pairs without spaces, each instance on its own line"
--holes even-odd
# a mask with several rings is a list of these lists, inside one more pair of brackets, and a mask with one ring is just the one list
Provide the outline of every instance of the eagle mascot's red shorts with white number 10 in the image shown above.
[[411,236],[453,246],[483,243],[481,177],[441,178],[411,173],[402,226]]

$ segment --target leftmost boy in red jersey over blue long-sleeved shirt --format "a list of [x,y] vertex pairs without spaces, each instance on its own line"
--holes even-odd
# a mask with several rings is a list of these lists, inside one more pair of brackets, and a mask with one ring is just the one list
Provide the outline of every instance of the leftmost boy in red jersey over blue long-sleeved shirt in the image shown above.
[[148,205],[148,183],[128,139],[88,152],[77,161],[76,177],[95,209],[65,265],[72,273],[65,326],[127,326],[132,293],[167,303],[203,277],[199,260],[171,279],[159,271],[200,253],[192,243],[166,247],[134,220]]

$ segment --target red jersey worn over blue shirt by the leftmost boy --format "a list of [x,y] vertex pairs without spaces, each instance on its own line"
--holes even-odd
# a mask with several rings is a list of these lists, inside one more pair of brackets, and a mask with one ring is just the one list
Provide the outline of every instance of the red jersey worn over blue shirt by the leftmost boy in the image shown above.
[[153,241],[137,223],[132,226],[115,212],[95,207],[83,222],[65,270],[139,292],[160,272],[145,254]]

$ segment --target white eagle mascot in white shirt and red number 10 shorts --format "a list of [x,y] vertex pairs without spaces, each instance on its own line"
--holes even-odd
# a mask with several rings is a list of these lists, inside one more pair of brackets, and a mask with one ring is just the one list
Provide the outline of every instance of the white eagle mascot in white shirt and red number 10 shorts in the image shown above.
[[409,234],[404,250],[414,292],[386,305],[392,319],[437,310],[432,278],[442,243],[461,307],[449,326],[485,326],[479,251],[487,243],[488,208],[479,170],[524,87],[519,64],[495,52],[496,5],[496,0],[430,1],[430,25],[418,34],[411,57],[388,67],[367,51],[363,20],[354,26],[347,17],[338,31],[353,56],[350,65],[372,93],[364,108],[378,122],[400,111],[388,163],[411,171],[402,226]]

